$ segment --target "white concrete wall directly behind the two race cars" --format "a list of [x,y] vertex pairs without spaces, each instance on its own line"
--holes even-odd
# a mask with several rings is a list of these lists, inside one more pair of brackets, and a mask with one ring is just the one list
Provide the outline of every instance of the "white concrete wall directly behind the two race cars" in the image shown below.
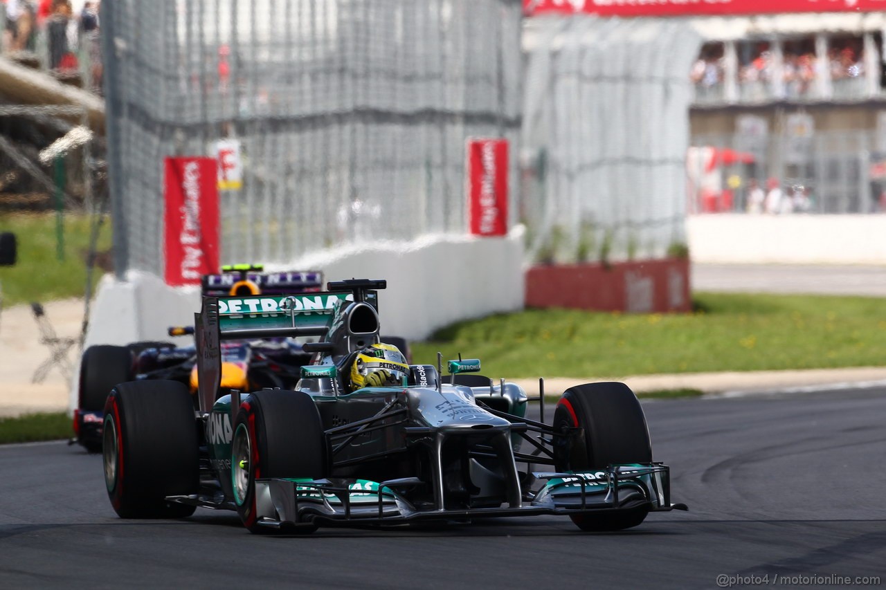
[[[413,242],[377,242],[317,252],[268,270],[322,270],[327,281],[386,279],[379,294],[382,332],[409,340],[428,338],[449,323],[523,308],[522,226],[506,238],[428,236]],[[168,287],[132,271],[127,281],[105,276],[89,316],[85,346],[173,340],[172,325],[193,325],[199,289]],[[79,368],[76,371],[79,373]],[[71,408],[76,400],[76,373]]]

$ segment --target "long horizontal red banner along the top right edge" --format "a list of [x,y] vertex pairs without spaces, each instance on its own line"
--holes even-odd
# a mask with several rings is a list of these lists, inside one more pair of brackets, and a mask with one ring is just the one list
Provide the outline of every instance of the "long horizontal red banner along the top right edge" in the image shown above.
[[886,11],[886,0],[524,0],[527,15],[585,12],[601,16],[690,16],[776,12]]

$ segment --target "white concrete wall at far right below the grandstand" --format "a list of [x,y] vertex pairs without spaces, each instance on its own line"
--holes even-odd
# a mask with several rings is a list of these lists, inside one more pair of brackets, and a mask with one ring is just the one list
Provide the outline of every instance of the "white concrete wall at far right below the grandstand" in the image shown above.
[[687,220],[693,262],[886,264],[886,215],[709,213]]

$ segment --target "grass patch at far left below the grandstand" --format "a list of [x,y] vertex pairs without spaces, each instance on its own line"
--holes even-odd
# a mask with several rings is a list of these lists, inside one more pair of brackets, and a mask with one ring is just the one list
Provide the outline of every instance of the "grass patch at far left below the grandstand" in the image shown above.
[[[92,216],[66,213],[63,227],[63,260],[58,260],[55,213],[4,213],[0,231],[12,231],[18,238],[18,263],[0,267],[4,307],[31,301],[82,297],[86,291],[86,255]],[[111,246],[110,225],[99,233],[98,251]],[[96,269],[97,283],[102,271]]]

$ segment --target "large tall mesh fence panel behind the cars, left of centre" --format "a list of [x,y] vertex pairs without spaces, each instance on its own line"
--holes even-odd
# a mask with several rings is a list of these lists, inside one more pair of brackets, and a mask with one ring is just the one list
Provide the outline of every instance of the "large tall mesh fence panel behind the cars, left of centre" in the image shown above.
[[285,262],[463,232],[466,138],[517,142],[518,0],[115,0],[101,16],[118,272],[162,274],[167,156],[236,139],[221,260]]

